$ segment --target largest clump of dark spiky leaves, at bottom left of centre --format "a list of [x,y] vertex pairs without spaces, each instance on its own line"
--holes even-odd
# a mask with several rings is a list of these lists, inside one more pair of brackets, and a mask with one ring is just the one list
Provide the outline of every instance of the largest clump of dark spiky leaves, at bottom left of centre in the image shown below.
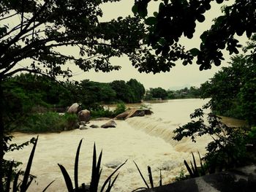
[[[102,169],[100,169],[100,164],[101,164],[101,160],[102,160],[102,151],[99,153],[99,158],[97,161],[97,152],[96,152],[95,143],[94,143],[94,153],[93,153],[93,161],[92,161],[91,184],[88,186],[88,185],[85,185],[85,183],[83,183],[80,187],[78,185],[78,161],[79,161],[79,153],[80,153],[80,147],[82,144],[82,140],[83,139],[81,139],[79,142],[78,150],[75,155],[75,166],[74,166],[75,188],[73,187],[71,178],[69,177],[67,170],[61,164],[58,164],[58,165],[59,165],[59,168],[61,169],[65,183],[67,185],[67,190],[69,192],[73,192],[73,191],[75,191],[75,192],[78,192],[78,191],[79,192],[86,192],[86,191],[97,192],[98,185],[99,185],[99,178],[102,173]],[[115,174],[118,171],[118,169],[121,168],[121,166],[124,166],[124,164],[126,162],[127,161],[125,161],[123,164],[118,166],[118,168],[116,168],[116,170],[112,174],[110,174],[110,176],[107,178],[107,180],[105,180],[105,182],[103,183],[102,188],[100,190],[101,192],[105,189],[106,185],[108,185],[108,187],[106,188],[106,192],[111,191],[113,184],[116,182],[116,179],[118,177],[118,174],[117,174],[116,177],[111,182],[111,178],[113,177],[113,174]]]

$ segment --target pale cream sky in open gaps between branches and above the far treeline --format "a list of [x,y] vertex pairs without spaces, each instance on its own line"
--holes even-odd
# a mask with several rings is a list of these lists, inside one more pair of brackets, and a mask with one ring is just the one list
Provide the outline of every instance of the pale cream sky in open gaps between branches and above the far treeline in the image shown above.
[[[154,1],[153,1],[154,2]],[[232,1],[231,1],[232,2]],[[101,8],[103,11],[103,18],[101,21],[108,21],[113,18],[118,18],[118,16],[125,17],[127,15],[132,15],[132,5],[134,1],[132,0],[122,0],[115,3],[104,4]],[[154,9],[158,8],[158,3],[152,4],[148,7],[149,12],[154,12]],[[227,2],[227,3],[230,3]],[[206,21],[204,23],[197,23],[196,34],[192,40],[181,39],[181,44],[187,49],[192,47],[199,47],[200,45],[200,34],[212,24],[212,20],[221,14],[219,4],[211,4],[212,9],[206,12]],[[221,66],[227,66],[227,61],[230,55],[225,54],[225,61],[223,61]],[[146,89],[162,87],[165,89],[176,90],[179,88],[196,86],[200,87],[200,84],[206,82],[209,78],[213,77],[216,72],[221,69],[221,66],[212,66],[210,70],[200,71],[197,64],[192,64],[188,66],[183,66],[181,61],[176,63],[176,66],[170,69],[170,72],[162,72],[159,74],[146,74],[140,73],[135,69],[127,57],[122,58],[112,58],[111,64],[120,65],[122,68],[119,71],[103,73],[103,72],[80,72],[79,69],[73,69],[73,80],[84,80],[89,79],[98,82],[111,82],[113,80],[125,80],[128,81],[134,78],[141,82]],[[72,69],[72,68],[71,68]]]

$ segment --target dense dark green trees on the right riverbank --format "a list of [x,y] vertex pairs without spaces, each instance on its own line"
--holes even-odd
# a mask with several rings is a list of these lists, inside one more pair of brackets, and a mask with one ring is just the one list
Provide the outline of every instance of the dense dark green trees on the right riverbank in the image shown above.
[[256,125],[256,64],[251,58],[238,55],[230,66],[214,74],[201,85],[202,98],[211,97],[211,110],[217,115],[247,120]]

